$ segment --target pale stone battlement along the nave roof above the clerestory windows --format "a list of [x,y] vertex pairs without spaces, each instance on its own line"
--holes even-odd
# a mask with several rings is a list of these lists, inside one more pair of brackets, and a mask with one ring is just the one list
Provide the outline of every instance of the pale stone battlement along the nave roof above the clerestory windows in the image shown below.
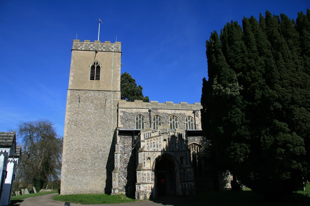
[[135,100],[134,102],[127,102],[126,99],[118,101],[119,108],[152,108],[152,109],[176,109],[176,110],[200,110],[201,103],[188,104],[187,102],[173,103],[158,103],[158,101],[143,102],[142,100]]

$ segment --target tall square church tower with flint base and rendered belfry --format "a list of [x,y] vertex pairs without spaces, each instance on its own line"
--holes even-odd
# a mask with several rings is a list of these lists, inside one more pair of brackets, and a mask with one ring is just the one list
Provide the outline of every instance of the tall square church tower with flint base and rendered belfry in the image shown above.
[[111,193],[121,54],[121,42],[73,40],[61,195]]

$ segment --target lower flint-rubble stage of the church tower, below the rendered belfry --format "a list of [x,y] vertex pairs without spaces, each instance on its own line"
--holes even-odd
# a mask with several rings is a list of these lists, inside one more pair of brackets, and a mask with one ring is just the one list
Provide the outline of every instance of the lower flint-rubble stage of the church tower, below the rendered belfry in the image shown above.
[[113,91],[112,125],[111,91],[68,90],[61,195],[111,192],[111,133],[119,98]]

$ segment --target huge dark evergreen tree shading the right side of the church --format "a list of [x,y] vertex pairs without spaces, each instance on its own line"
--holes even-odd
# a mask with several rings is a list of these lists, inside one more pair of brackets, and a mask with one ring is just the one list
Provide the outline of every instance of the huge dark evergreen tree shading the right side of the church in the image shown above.
[[218,167],[267,195],[288,197],[309,175],[309,16],[267,11],[206,42],[202,127]]

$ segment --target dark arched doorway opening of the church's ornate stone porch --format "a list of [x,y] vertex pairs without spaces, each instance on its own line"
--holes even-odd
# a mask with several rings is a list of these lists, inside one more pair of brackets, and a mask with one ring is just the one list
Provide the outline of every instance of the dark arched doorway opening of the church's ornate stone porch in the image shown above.
[[157,159],[154,173],[157,197],[175,196],[175,163],[169,155]]

